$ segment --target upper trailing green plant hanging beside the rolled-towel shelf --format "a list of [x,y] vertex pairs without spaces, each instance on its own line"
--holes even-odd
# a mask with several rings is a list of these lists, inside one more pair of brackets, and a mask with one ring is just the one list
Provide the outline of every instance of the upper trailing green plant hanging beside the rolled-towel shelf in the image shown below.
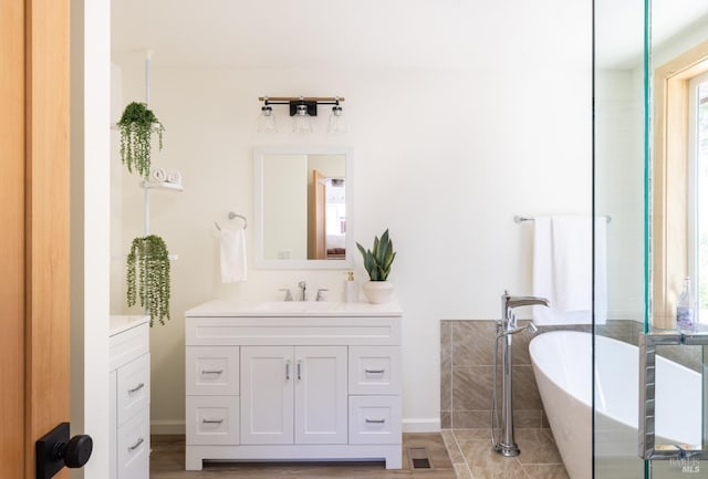
[[133,102],[123,111],[118,122],[121,129],[121,160],[144,178],[150,175],[150,135],[157,133],[159,149],[163,149],[165,127],[145,103]]

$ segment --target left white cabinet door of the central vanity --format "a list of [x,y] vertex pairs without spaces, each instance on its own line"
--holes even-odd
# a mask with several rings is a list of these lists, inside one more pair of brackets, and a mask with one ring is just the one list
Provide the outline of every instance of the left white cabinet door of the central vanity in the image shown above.
[[293,442],[292,346],[241,347],[241,444]]

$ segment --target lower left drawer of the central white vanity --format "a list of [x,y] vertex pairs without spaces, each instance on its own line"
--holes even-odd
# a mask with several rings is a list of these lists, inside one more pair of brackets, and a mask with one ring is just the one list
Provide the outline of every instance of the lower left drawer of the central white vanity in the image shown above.
[[187,396],[187,445],[239,444],[238,396]]

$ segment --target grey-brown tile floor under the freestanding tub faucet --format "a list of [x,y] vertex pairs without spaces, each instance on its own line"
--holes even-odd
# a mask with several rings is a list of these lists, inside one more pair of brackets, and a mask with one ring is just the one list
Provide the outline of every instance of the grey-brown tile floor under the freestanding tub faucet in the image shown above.
[[550,429],[517,428],[521,455],[492,450],[489,429],[445,429],[442,440],[457,479],[569,479]]

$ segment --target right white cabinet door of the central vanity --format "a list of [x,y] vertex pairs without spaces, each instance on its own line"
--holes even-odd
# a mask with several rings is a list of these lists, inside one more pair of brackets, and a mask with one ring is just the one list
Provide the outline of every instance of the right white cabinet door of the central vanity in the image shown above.
[[295,346],[295,444],[347,442],[346,346]]

